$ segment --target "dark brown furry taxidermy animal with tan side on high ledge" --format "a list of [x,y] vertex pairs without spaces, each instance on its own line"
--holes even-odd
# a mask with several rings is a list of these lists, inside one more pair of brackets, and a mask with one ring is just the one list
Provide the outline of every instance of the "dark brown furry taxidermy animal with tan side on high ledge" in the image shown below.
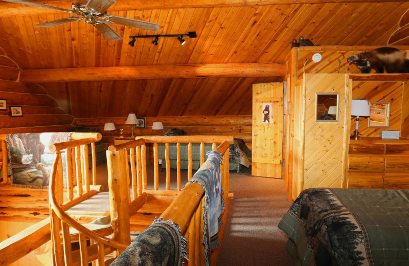
[[348,57],[349,64],[355,64],[362,73],[370,73],[374,69],[376,73],[409,73],[409,59],[406,59],[401,51],[392,47],[381,47],[375,50],[351,55]]

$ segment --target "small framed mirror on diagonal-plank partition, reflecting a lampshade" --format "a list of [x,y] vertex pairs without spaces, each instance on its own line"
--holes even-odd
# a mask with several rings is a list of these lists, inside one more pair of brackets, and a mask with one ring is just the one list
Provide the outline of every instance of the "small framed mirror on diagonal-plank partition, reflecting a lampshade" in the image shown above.
[[338,122],[339,93],[315,94],[315,122]]

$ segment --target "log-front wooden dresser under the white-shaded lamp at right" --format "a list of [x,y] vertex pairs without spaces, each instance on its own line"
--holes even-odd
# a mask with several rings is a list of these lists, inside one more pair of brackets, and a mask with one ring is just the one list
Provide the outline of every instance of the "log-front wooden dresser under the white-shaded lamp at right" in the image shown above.
[[351,140],[348,188],[409,189],[409,139]]

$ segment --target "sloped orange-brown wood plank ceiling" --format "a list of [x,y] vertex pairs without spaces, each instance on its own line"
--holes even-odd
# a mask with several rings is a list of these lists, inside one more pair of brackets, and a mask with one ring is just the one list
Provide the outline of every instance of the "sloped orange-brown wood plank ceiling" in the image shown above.
[[[53,5],[53,1],[41,3]],[[33,26],[70,16],[66,13],[3,16],[0,47],[21,69],[280,63],[290,51],[291,40],[299,36],[319,45],[387,45],[408,9],[408,2],[388,2],[108,10],[112,15],[161,25],[158,32],[112,25],[124,37],[123,41],[108,41],[82,21],[51,28]],[[184,46],[176,38],[161,38],[157,46],[152,45],[153,39],[144,38],[137,39],[134,47],[128,45],[129,35],[189,31],[196,31],[197,38],[187,38]],[[399,44],[408,45],[405,41]],[[77,118],[123,117],[129,112],[138,116],[251,115],[252,84],[277,80],[280,78],[41,85]]]

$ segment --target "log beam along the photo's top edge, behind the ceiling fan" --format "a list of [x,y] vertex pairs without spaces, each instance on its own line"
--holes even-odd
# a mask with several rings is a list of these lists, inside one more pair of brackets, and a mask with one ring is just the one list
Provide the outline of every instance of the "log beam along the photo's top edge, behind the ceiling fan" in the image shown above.
[[[401,0],[399,2],[407,2]],[[72,0],[32,1],[40,4],[71,9]],[[383,0],[382,2],[397,2]],[[249,7],[274,4],[324,4],[324,3],[379,3],[379,0],[151,0],[134,1],[118,0],[109,11],[147,10],[147,9],[174,9],[174,8],[213,8],[213,7]],[[0,2],[0,17],[21,15],[45,15],[61,13],[53,9],[37,8],[9,2]]]

